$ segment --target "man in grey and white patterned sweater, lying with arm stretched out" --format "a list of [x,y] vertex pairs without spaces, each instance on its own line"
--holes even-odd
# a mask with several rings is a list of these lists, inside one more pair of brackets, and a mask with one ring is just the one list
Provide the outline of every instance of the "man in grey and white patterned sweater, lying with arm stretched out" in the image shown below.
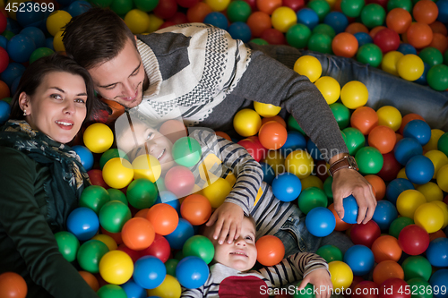
[[[353,168],[354,158],[348,157],[320,91],[305,76],[230,38],[227,31],[195,23],[135,38],[116,13],[92,9],[67,24],[63,40],[67,55],[90,72],[103,98],[137,106],[160,121],[182,117],[186,125],[228,131],[237,111],[253,101],[281,106],[332,166],[334,206],[340,217],[342,199],[350,194],[358,201],[358,223],[373,217],[371,185]],[[289,47],[275,54],[284,48]],[[283,63],[292,57],[280,56]]]

